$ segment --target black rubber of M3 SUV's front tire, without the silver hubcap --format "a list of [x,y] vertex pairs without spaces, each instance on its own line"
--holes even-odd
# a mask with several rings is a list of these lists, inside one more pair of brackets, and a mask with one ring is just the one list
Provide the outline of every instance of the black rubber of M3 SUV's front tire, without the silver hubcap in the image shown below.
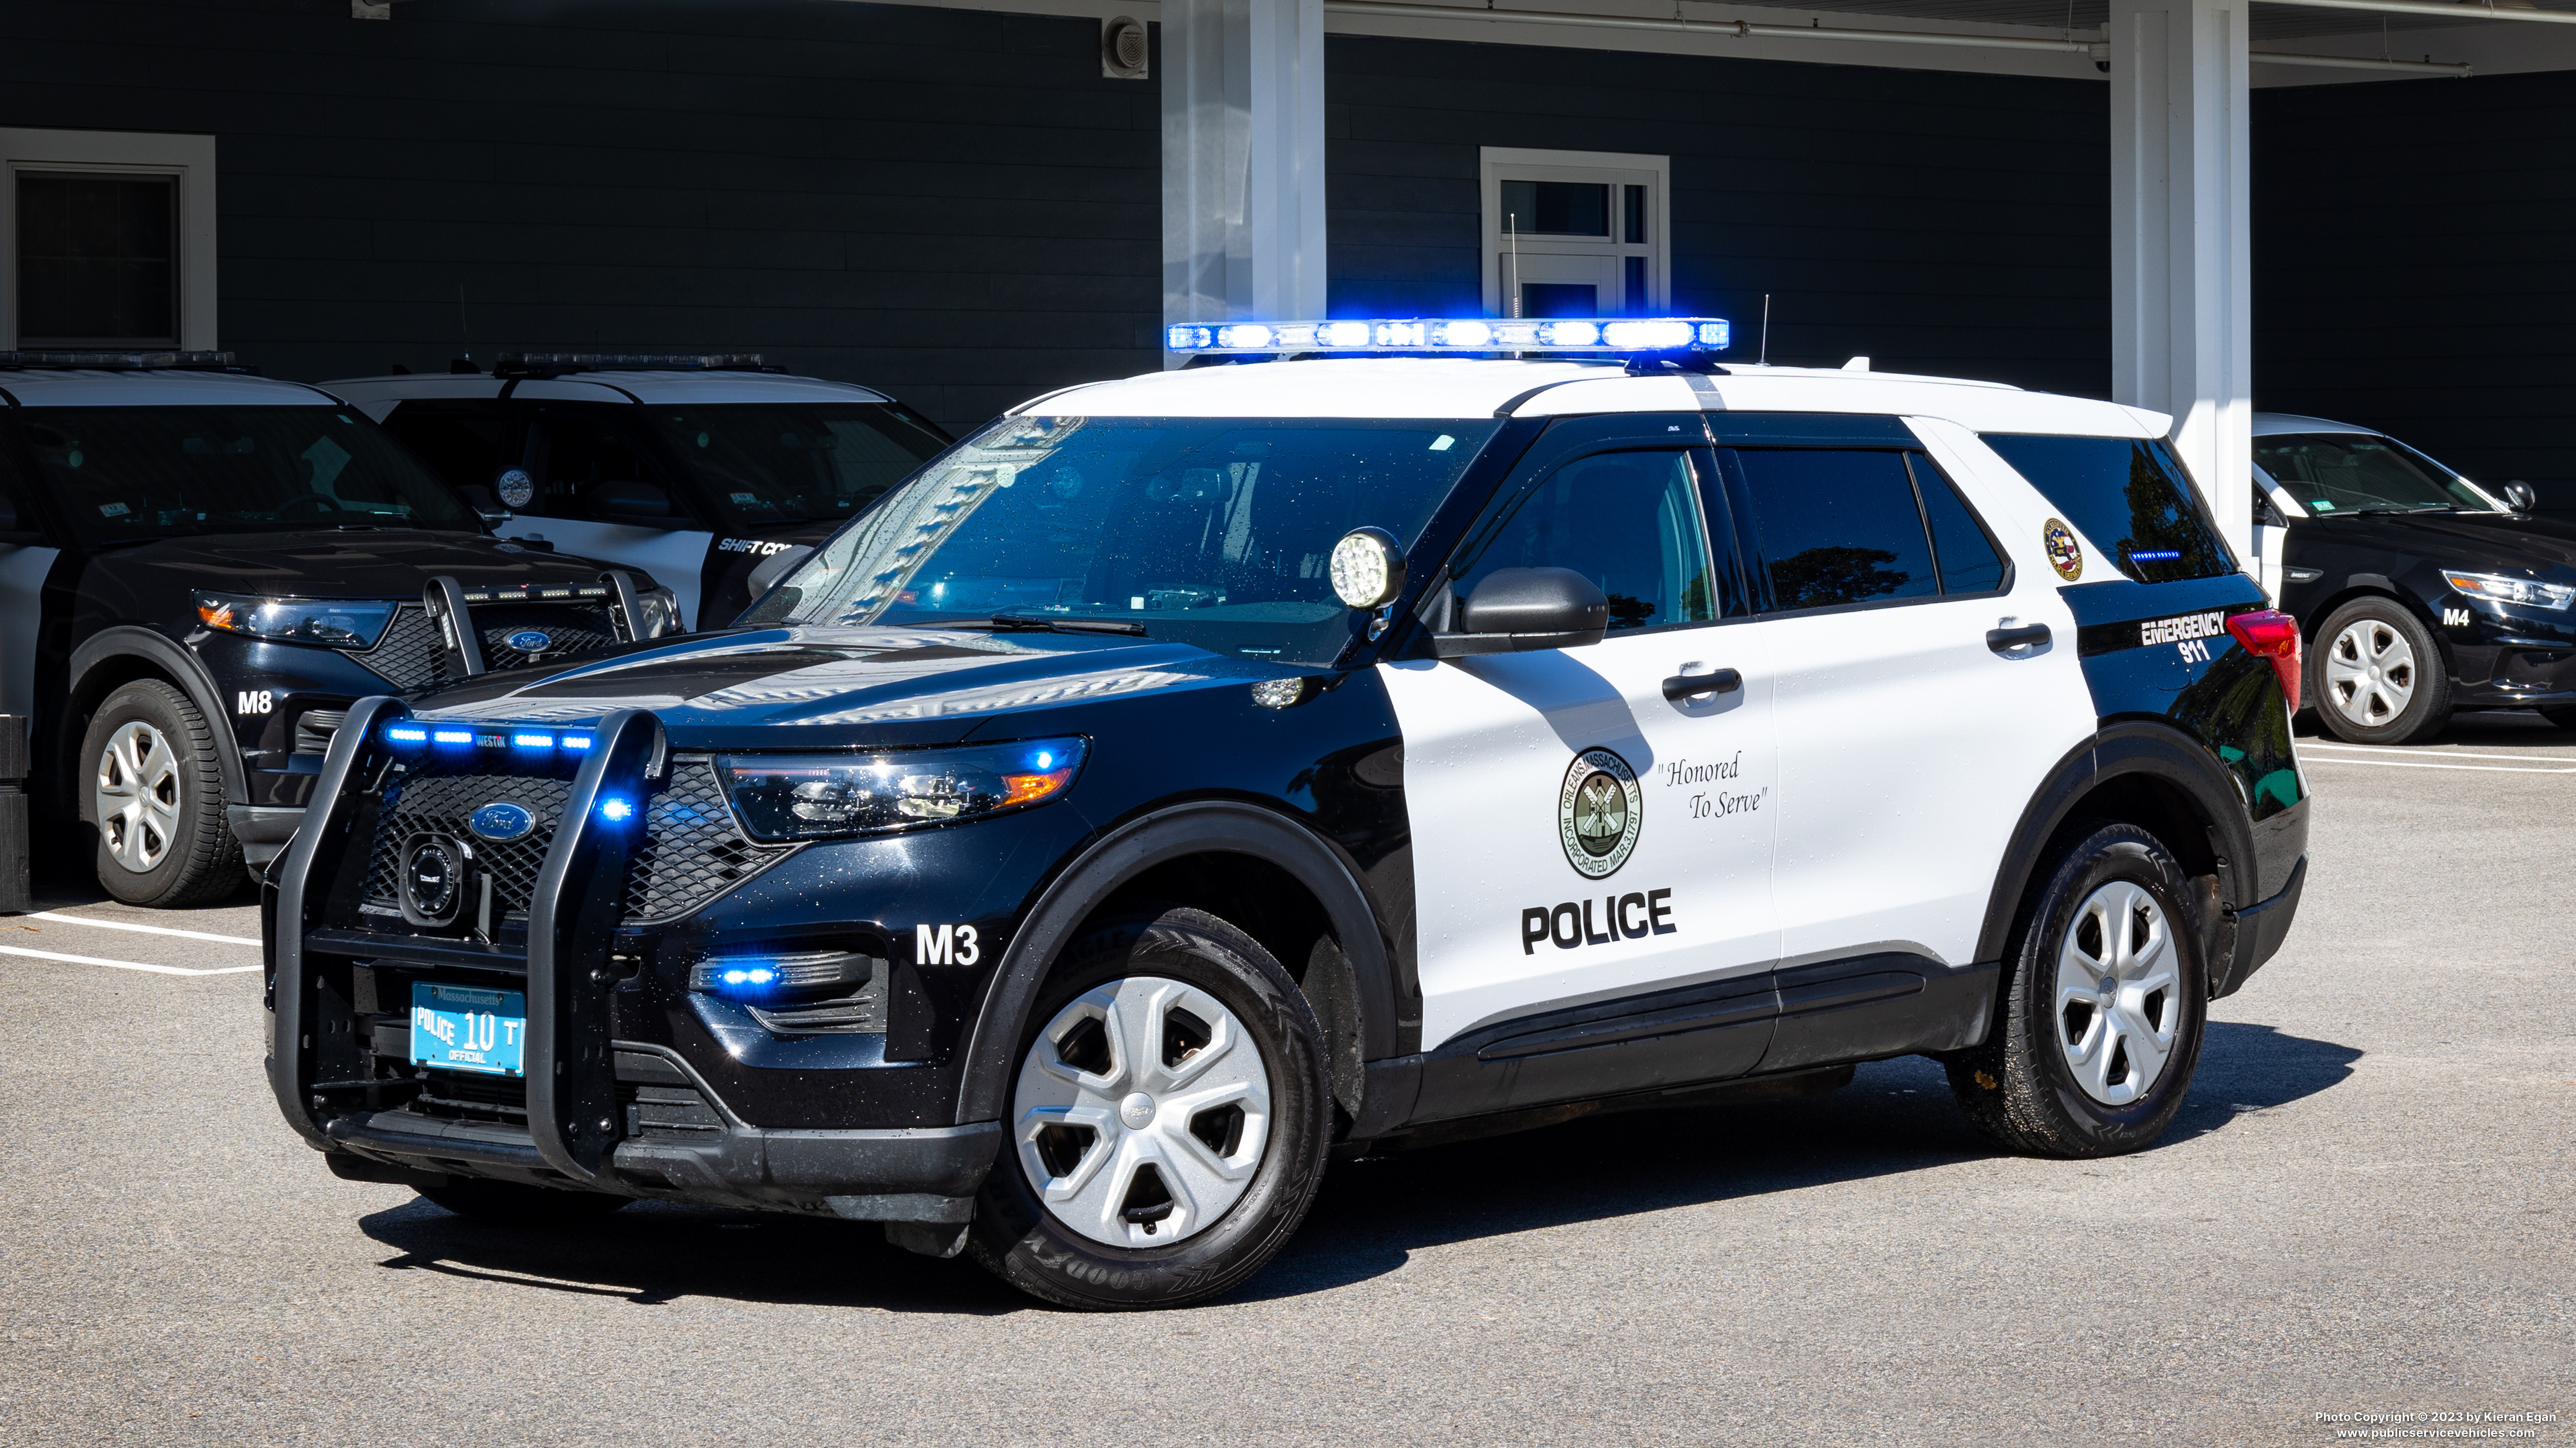
[[1306,1219],[1332,1134],[1324,1033],[1306,995],[1270,951],[1200,910],[1159,910],[1077,940],[1023,1028],[1012,1080],[1059,1010],[1121,976],[1177,979],[1234,1013],[1270,1074],[1270,1136],[1242,1198],[1216,1221],[1172,1247],[1139,1250],[1059,1221],[1030,1185],[1018,1141],[1005,1141],[976,1198],[969,1255],[1036,1299],[1092,1311],[1185,1306],[1257,1273]]

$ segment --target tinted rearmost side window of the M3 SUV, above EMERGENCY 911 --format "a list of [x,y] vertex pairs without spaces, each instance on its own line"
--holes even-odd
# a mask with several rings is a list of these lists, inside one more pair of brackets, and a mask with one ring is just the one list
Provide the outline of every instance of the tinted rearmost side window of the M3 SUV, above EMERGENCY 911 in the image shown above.
[[2138,582],[2221,577],[2236,554],[2218,536],[2174,451],[2154,438],[1984,433],[2012,472]]

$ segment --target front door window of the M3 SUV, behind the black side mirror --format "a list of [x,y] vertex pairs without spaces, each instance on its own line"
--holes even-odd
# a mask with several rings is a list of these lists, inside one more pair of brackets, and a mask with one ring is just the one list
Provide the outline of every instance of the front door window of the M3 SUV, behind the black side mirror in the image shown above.
[[1566,464],[1458,575],[1458,598],[1507,567],[1561,567],[1589,577],[1610,595],[1613,631],[1718,616],[1687,453],[1600,453]]

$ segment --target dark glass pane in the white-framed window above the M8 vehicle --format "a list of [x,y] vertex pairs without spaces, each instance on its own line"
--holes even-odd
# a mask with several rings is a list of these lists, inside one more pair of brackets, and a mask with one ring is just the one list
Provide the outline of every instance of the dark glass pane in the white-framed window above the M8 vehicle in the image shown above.
[[18,343],[178,343],[175,178],[18,173]]

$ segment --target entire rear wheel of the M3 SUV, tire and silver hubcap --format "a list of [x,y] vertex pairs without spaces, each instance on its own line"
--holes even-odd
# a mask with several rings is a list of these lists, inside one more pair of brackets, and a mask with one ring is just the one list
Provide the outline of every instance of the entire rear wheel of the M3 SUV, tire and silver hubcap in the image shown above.
[[1947,1062],[1950,1092],[1996,1147],[2117,1157],[2164,1134],[2200,1064],[2208,964],[2187,879],[2136,824],[2058,855],[2017,948],[2002,1020]]

